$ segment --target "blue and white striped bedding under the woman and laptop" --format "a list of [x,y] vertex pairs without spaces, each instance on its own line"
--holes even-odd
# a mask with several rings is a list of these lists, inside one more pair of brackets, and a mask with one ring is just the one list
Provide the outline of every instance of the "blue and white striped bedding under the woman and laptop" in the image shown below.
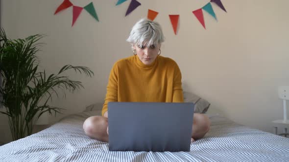
[[[100,112],[97,112],[100,113]],[[84,120],[72,115],[39,133],[0,146],[0,162],[289,162],[289,138],[211,118],[211,130],[190,152],[110,152],[108,143],[88,138]]]

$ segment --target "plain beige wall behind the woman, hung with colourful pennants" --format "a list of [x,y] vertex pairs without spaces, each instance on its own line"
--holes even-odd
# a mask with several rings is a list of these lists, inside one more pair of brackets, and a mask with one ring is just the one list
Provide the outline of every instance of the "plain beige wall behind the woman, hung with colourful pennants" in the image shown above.
[[[62,0],[2,0],[1,5],[1,24],[10,38],[48,35],[39,53],[46,71],[56,73],[64,64],[72,64],[95,72],[92,79],[71,73],[86,89],[55,99],[53,105],[67,110],[50,117],[50,122],[103,101],[110,69],[115,61],[132,55],[125,40],[148,8],[159,12],[156,21],[166,37],[162,55],[177,61],[185,88],[210,101],[210,112],[269,132],[270,122],[282,118],[277,86],[289,84],[288,0],[222,0],[228,13],[214,4],[216,22],[204,12],[207,30],[192,11],[209,0],[140,0],[142,5],[127,17],[129,1],[120,6],[114,5],[117,0],[71,1],[78,6],[93,1],[100,22],[83,11],[71,27],[72,8],[53,15]],[[180,14],[177,36],[169,14]],[[0,119],[0,132],[9,131],[6,118]],[[0,139],[9,141],[7,135]]]

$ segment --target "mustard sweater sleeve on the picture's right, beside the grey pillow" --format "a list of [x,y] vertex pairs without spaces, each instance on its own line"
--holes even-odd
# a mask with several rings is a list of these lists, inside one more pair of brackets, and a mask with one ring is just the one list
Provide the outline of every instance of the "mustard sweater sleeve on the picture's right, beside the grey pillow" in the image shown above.
[[184,102],[183,88],[182,88],[182,74],[177,63],[174,68],[172,102]]

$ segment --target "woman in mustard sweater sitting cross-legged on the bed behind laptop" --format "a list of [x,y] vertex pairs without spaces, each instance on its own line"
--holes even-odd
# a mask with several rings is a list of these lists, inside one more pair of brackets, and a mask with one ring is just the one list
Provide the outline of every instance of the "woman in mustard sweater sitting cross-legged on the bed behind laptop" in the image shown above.
[[[164,36],[159,23],[139,20],[133,26],[127,41],[132,44],[134,55],[114,64],[108,80],[102,117],[89,117],[83,124],[89,137],[102,142],[108,142],[108,102],[184,101],[182,76],[177,63],[160,56]],[[210,127],[209,119],[203,114],[193,116],[192,142],[202,138]]]

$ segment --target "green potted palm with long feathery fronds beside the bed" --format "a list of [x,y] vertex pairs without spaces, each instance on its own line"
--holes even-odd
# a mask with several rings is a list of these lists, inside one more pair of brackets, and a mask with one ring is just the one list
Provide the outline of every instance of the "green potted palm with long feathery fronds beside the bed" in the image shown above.
[[40,71],[36,54],[43,37],[10,40],[0,29],[0,102],[4,107],[0,113],[8,116],[13,141],[31,135],[34,123],[43,113],[61,113],[62,108],[48,105],[53,96],[58,97],[59,90],[65,95],[65,90],[84,88],[80,81],[63,76],[64,72],[94,75],[88,67],[72,65],[63,66],[57,74]]

